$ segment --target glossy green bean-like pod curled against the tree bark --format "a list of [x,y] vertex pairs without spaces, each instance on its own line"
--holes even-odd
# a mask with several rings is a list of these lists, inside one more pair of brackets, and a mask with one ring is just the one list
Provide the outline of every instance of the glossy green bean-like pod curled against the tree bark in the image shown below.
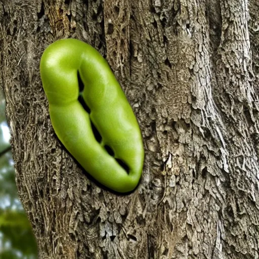
[[[81,93],[78,72],[84,85]],[[65,148],[104,186],[121,193],[134,190],[144,163],[140,127],[102,55],[80,40],[58,40],[42,54],[40,76],[54,131]]]

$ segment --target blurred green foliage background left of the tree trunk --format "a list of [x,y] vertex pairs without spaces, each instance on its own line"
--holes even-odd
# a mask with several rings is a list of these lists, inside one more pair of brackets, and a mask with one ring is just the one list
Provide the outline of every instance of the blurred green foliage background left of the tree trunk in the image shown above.
[[0,89],[0,258],[36,259],[36,242],[17,194],[5,105]]

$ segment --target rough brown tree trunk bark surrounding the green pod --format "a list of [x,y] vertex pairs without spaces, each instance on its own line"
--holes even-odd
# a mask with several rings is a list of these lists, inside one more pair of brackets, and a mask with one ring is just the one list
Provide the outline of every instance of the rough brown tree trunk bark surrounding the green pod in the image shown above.
[[[19,196],[46,258],[259,258],[257,0],[2,0],[1,85]],[[138,189],[97,186],[54,134],[39,60],[75,37],[140,122]]]

